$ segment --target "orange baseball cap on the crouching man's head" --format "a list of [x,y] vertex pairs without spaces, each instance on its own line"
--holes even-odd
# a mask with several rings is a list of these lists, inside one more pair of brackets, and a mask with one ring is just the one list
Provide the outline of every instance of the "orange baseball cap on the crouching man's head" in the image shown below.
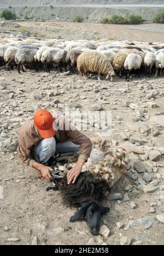
[[43,138],[55,136],[56,131],[53,128],[54,118],[51,113],[45,109],[39,109],[34,114],[34,125],[37,126],[39,134]]

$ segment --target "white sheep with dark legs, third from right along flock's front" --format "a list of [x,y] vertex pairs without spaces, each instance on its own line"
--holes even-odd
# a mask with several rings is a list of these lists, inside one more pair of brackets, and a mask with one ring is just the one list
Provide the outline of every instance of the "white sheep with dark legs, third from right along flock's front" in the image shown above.
[[140,66],[142,65],[142,57],[139,54],[128,54],[124,63],[125,68],[125,79],[128,79],[130,71],[132,69],[139,69],[140,76]]

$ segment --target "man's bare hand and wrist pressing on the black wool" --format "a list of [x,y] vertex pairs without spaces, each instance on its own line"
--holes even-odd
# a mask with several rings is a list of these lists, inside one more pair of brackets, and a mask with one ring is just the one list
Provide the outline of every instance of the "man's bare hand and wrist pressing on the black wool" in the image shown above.
[[82,171],[83,165],[85,163],[84,159],[79,159],[77,162],[77,165],[73,167],[67,174],[67,180],[68,180],[68,185],[71,183],[75,183],[77,180],[80,172]]

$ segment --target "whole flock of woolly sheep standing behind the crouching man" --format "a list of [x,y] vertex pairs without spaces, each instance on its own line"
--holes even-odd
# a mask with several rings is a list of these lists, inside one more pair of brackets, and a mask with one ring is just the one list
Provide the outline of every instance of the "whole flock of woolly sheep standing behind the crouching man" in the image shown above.
[[20,39],[14,36],[0,38],[0,66],[7,69],[17,67],[24,72],[26,68],[62,68],[69,66],[71,72],[75,69],[88,77],[97,73],[98,79],[106,75],[113,80],[116,74],[125,79],[130,77],[130,72],[138,69],[145,75],[157,74],[164,69],[164,44],[143,43],[128,41],[93,42],[86,40],[65,41],[38,38]]

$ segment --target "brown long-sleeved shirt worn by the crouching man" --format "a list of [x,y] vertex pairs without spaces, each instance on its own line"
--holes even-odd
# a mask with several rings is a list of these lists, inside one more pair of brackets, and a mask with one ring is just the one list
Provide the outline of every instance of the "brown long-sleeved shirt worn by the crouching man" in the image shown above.
[[[19,146],[17,148],[18,156],[24,164],[33,166],[35,160],[33,159],[32,149],[36,146],[41,139],[43,139],[38,132],[37,127],[34,125],[33,120],[24,124],[19,132]],[[54,136],[56,141],[66,142],[72,141],[74,144],[79,145],[79,158],[87,161],[91,154],[92,142],[91,140],[78,130],[69,129],[58,130]]]

